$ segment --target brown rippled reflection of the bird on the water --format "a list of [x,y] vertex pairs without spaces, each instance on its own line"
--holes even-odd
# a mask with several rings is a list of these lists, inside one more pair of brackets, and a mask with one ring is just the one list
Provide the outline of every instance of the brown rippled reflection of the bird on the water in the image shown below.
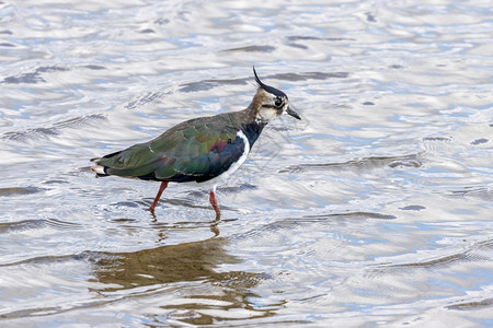
[[[238,308],[250,318],[274,315],[277,306],[255,306],[253,300],[259,295],[250,291],[265,279],[263,274],[219,272],[222,265],[241,262],[227,254],[226,244],[227,239],[218,237],[134,253],[89,253],[87,256],[94,271],[91,282],[103,284],[91,291],[107,297],[122,292],[133,297],[148,297],[170,293],[170,286],[176,288],[173,302],[163,300],[159,306],[174,319],[190,324],[213,324],[213,316],[208,314],[211,311],[215,320],[221,316],[228,318],[228,312]],[[192,286],[190,282],[195,283]]]

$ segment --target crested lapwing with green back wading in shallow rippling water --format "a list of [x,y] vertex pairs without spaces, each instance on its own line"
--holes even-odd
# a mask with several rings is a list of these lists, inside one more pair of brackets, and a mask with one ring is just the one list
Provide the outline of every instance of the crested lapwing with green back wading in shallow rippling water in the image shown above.
[[283,91],[264,84],[255,67],[253,74],[257,89],[245,109],[183,121],[151,141],[90,160],[95,164],[91,169],[98,177],[160,181],[148,209],[152,215],[169,183],[205,187],[218,220],[217,185],[244,163],[265,126],[284,113],[301,119]]

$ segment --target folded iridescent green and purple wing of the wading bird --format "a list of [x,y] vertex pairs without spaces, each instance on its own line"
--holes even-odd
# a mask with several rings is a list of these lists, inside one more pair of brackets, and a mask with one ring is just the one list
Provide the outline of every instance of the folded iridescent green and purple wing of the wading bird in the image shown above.
[[169,181],[204,181],[243,154],[231,115],[182,122],[160,137],[98,161],[110,175]]

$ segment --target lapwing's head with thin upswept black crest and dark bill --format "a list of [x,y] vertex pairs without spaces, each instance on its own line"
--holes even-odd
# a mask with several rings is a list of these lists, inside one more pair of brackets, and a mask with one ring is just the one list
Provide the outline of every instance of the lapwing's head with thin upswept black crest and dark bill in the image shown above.
[[287,95],[278,89],[264,84],[253,68],[255,81],[259,84],[256,94],[253,97],[251,106],[255,108],[255,119],[262,122],[268,122],[271,119],[279,117],[283,113],[301,119],[301,117],[289,106]]

